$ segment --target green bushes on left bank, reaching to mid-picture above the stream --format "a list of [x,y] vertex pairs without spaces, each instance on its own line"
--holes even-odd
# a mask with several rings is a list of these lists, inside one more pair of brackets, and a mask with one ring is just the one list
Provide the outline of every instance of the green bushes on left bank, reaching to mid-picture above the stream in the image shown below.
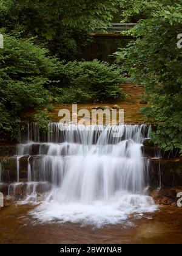
[[125,96],[120,88],[124,79],[115,65],[98,60],[62,62],[49,56],[34,38],[4,34],[4,45],[0,51],[0,129],[12,139],[18,138],[29,108],[49,108],[50,101],[104,102]]

